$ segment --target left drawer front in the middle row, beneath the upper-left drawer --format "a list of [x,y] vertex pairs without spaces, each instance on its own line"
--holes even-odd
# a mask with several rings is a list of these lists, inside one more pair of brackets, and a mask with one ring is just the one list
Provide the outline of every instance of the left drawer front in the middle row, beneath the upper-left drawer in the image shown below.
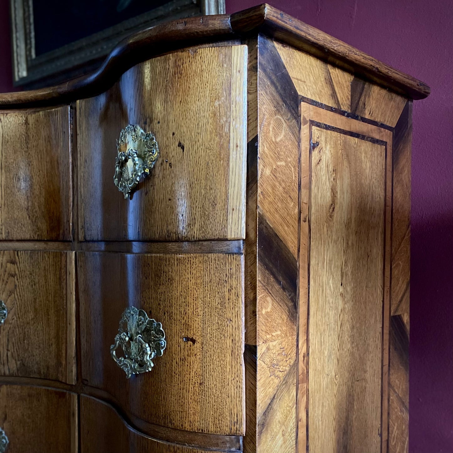
[[74,252],[0,251],[0,299],[0,375],[74,384]]

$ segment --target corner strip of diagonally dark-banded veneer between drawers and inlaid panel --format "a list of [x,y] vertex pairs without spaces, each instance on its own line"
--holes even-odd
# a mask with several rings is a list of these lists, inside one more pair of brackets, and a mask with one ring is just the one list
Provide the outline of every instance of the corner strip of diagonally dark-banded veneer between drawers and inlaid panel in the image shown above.
[[246,238],[247,312],[256,313],[254,321],[246,318],[246,329],[255,330],[247,337],[246,395],[256,409],[247,409],[244,451],[263,453],[296,448],[299,98],[275,57],[273,44],[260,36],[258,118],[249,116],[258,135],[249,142]]

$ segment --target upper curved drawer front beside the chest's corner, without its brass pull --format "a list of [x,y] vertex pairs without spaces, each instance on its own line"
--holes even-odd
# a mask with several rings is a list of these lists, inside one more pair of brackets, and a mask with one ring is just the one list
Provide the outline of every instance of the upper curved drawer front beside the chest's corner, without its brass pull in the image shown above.
[[[245,237],[246,62],[241,45],[170,53],[77,102],[81,240]],[[160,150],[132,199],[113,183],[128,124]]]

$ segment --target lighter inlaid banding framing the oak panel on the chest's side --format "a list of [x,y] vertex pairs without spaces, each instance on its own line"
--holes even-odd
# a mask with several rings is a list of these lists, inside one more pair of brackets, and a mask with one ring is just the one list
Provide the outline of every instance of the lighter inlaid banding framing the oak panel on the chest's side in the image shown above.
[[[388,406],[389,406],[389,391],[388,391],[388,381],[389,381],[389,321],[390,321],[390,254],[391,254],[391,210],[392,210],[392,191],[391,191],[391,182],[392,182],[392,165],[391,165],[391,146],[392,146],[392,132],[390,130],[383,130],[378,125],[367,126],[370,122],[365,124],[360,121],[354,121],[356,124],[351,123],[351,119],[354,118],[344,116],[338,111],[338,109],[326,109],[318,106],[314,106],[311,102],[304,102],[304,98],[300,97],[301,101],[301,156],[307,155],[304,154],[304,145],[308,143],[308,169],[304,168],[303,160],[301,157],[301,180],[307,184],[305,187],[302,184],[301,186],[301,205],[306,205],[306,212],[301,209],[301,229],[304,223],[307,225],[306,231],[301,231],[301,236],[306,235],[308,238],[306,248],[304,250],[304,241],[301,240],[300,244],[302,246],[299,251],[299,272],[300,275],[304,273],[305,265],[307,266],[306,280],[300,282],[300,288],[307,288],[304,298],[300,296],[299,299],[299,319],[305,319],[299,323],[299,386],[298,386],[298,404],[299,404],[299,423],[305,424],[305,432],[299,430],[298,433],[298,442],[299,442],[299,452],[301,450],[301,443],[305,444],[307,453],[309,450],[308,444],[308,414],[309,414],[309,269],[310,269],[310,241],[311,241],[311,226],[310,226],[310,215],[311,212],[311,169],[312,169],[312,151],[315,149],[318,144],[313,143],[312,140],[312,129],[313,127],[318,127],[324,130],[331,130],[343,135],[348,135],[359,140],[369,141],[371,143],[384,146],[384,159],[385,159],[385,169],[384,169],[384,231],[383,231],[383,294],[382,294],[382,330],[381,330],[381,452],[385,453],[388,451],[388,430],[389,430],[389,417],[388,417]],[[322,110],[321,110],[322,109]],[[339,113],[340,116],[334,114]],[[304,114],[306,116],[304,116]],[[317,121],[311,118],[313,117],[324,118],[324,121]],[[308,119],[310,118],[310,119]],[[345,119],[346,118],[346,119]],[[307,121],[308,119],[308,121]],[[343,127],[337,127],[333,124],[343,125]],[[349,129],[344,127],[351,126]],[[352,130],[351,130],[352,129]],[[307,130],[308,130],[308,142],[307,142]],[[360,132],[365,133],[360,133]],[[379,136],[379,138],[376,138]],[[385,140],[383,140],[385,139]],[[390,150],[389,150],[390,148]],[[306,150],[307,151],[307,150]],[[388,152],[390,151],[390,153]],[[307,174],[308,170],[308,174]],[[308,176],[308,179],[307,179]],[[308,188],[308,198],[304,199],[304,188]],[[302,260],[304,262],[302,263]],[[306,261],[305,261],[306,260]],[[302,279],[302,277],[301,277]],[[305,306],[306,304],[306,306]],[[305,311],[306,310],[306,311]],[[304,333],[305,331],[305,333]],[[302,373],[301,373],[302,369]],[[305,376],[304,375],[305,371]],[[300,387],[301,379],[300,376],[303,376],[302,383],[304,387]],[[303,395],[305,390],[305,395]]]

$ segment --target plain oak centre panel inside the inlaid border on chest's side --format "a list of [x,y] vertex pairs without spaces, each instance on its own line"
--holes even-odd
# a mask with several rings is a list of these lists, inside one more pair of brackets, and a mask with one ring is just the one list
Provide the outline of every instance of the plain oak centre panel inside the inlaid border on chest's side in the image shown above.
[[312,452],[381,451],[385,147],[313,127]]

